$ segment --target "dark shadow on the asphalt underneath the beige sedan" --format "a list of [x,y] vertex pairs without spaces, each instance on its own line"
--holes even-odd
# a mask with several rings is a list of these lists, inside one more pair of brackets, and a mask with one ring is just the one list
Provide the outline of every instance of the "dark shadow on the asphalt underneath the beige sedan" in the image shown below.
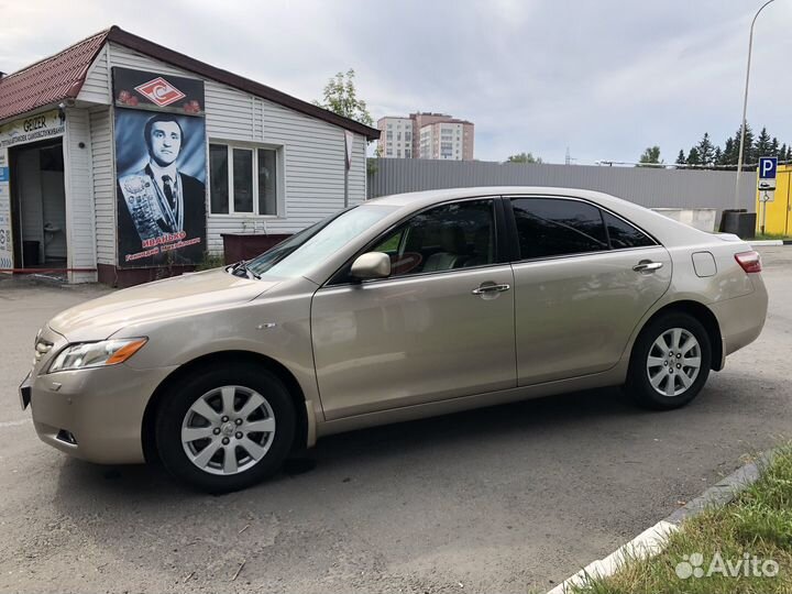
[[[361,429],[321,439],[311,450],[293,453],[284,469],[255,488],[266,488],[295,477],[332,469],[353,474],[356,465],[399,463],[404,457],[420,455],[438,449],[453,449],[475,440],[503,441],[531,431],[564,432],[591,425],[593,419],[616,419],[657,415],[637,408],[618,388],[593,389],[537,398],[475,410],[431,417],[415,421]],[[66,459],[61,475],[61,491],[67,498],[108,496],[133,497],[157,502],[185,497],[211,497],[177,484],[158,464],[101,466]],[[90,495],[89,495],[90,494]]]

